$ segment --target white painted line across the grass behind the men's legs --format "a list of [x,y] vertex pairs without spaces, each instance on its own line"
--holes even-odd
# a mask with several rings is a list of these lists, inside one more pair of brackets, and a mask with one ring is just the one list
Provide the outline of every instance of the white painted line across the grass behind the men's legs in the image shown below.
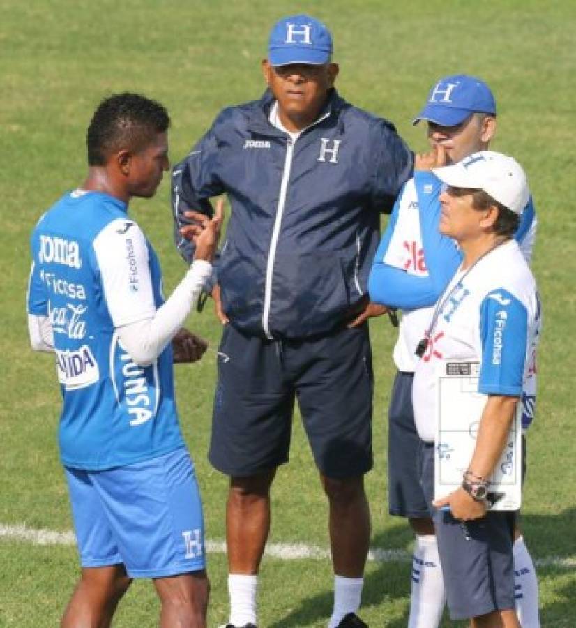
[[[33,545],[74,545],[74,532],[54,532],[53,530],[36,530],[27,525],[1,525],[0,539],[22,541]],[[225,541],[206,540],[208,553],[223,554],[226,552]],[[266,556],[282,560],[313,559],[328,560],[330,551],[317,545],[305,543],[268,543]],[[375,562],[409,562],[411,554],[400,549],[386,550],[373,547],[368,554],[368,560]],[[545,556],[534,559],[536,567],[559,567],[561,569],[576,569],[576,556]]]

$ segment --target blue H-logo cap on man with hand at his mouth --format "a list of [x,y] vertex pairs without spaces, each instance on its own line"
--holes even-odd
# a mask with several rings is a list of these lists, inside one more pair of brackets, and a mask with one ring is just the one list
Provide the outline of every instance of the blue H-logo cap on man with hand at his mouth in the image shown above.
[[428,120],[442,126],[455,126],[473,113],[496,115],[494,95],[479,78],[456,74],[440,79],[432,87],[425,107],[412,124]]

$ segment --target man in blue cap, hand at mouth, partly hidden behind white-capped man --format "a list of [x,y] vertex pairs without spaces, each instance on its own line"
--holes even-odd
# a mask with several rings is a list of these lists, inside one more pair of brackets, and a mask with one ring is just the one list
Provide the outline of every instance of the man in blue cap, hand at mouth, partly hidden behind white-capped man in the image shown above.
[[[457,163],[487,149],[497,127],[497,109],[490,87],[478,77],[450,75],[438,80],[414,120],[424,120],[432,148],[441,163]],[[414,425],[412,382],[420,334],[432,317],[433,305],[461,261],[453,239],[438,230],[441,181],[432,172],[417,171],[404,185],[370,274],[372,301],[402,310],[393,358],[397,375],[388,410],[388,509],[409,519],[416,534],[411,570],[409,628],[439,625],[446,596],[434,525],[420,487],[419,439]],[[536,236],[532,200],[522,212],[515,239],[530,260]],[[523,403],[524,426],[533,418],[533,404]],[[538,628],[538,581],[520,530],[514,544],[517,611],[526,628]]]

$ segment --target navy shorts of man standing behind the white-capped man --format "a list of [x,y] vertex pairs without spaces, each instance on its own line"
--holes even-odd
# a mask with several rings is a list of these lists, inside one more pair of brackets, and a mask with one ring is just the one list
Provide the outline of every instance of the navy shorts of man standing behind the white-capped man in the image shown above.
[[430,518],[420,484],[420,437],[412,408],[414,373],[398,371],[388,408],[388,511],[391,515]]

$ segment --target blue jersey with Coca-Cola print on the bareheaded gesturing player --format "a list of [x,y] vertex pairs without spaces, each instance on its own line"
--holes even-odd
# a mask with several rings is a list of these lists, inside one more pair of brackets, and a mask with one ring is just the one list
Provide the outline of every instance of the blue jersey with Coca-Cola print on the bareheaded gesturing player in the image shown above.
[[76,190],[31,237],[28,311],[54,331],[61,459],[72,468],[108,469],[183,446],[171,346],[138,366],[115,331],[164,302],[158,258],[126,211],[107,194]]

